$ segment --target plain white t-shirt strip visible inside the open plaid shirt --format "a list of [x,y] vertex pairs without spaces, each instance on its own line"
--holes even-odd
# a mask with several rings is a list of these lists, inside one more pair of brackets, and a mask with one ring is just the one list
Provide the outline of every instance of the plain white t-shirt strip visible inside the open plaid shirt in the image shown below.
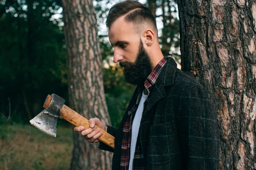
[[137,137],[138,137],[139,128],[140,128],[140,121],[142,118],[144,102],[145,102],[146,97],[147,97],[147,95],[142,93],[142,96],[140,99],[140,104],[139,104],[136,114],[134,116],[134,121],[133,121],[132,127],[131,127],[131,152],[130,152],[131,155],[130,155],[129,170],[132,170],[134,152],[135,152]]

